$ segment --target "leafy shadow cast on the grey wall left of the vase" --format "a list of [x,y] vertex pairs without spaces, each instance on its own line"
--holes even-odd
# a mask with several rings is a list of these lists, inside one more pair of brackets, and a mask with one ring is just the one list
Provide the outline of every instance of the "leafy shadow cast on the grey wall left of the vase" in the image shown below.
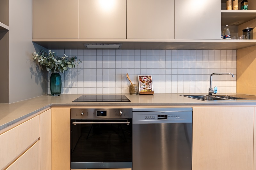
[[[42,49],[46,50],[46,48],[43,48],[42,46],[39,46],[38,44],[34,43],[33,42],[33,45],[34,45],[34,48],[35,48],[35,51],[38,52],[38,51],[41,51]],[[28,54],[28,56],[31,56],[31,59],[28,59],[28,62],[30,62],[30,67],[29,67],[29,70],[30,70],[30,76],[31,76],[31,79],[35,79],[35,83],[37,85],[40,84],[40,86],[42,87],[42,92],[44,94],[47,94],[48,93],[48,82],[47,82],[47,72],[45,69],[43,69],[40,65],[36,64],[34,61],[33,61],[33,54]]]

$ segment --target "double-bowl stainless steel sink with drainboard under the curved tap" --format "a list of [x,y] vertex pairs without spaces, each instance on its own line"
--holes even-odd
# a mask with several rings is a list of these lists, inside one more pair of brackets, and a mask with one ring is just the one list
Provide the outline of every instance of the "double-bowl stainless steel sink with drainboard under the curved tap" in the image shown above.
[[215,101],[215,100],[256,100],[256,96],[239,94],[239,95],[181,95],[192,99],[204,100],[204,101]]

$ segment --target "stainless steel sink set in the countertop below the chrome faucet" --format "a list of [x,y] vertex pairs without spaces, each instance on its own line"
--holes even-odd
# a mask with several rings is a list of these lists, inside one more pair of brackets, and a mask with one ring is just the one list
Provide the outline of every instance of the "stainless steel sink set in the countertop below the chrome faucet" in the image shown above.
[[255,100],[255,99],[248,99],[248,98],[242,98],[242,97],[236,97],[236,96],[229,96],[229,95],[180,95],[184,97],[189,97],[193,99],[198,99],[198,100],[204,100],[204,101],[215,101],[215,100]]

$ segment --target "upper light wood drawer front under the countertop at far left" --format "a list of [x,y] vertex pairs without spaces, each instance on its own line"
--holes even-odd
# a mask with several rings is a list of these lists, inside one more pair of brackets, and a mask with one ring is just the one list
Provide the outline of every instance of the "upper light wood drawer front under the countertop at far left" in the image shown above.
[[39,115],[0,135],[0,169],[40,137]]

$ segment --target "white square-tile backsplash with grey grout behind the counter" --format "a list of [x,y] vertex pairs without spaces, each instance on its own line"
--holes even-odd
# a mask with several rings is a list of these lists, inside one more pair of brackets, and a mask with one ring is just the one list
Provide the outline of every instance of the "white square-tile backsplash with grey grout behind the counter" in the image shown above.
[[[61,74],[63,94],[129,93],[138,75],[152,75],[155,93],[207,93],[210,75],[218,92],[236,92],[236,50],[52,50],[83,63]],[[50,73],[48,74],[48,92]]]

